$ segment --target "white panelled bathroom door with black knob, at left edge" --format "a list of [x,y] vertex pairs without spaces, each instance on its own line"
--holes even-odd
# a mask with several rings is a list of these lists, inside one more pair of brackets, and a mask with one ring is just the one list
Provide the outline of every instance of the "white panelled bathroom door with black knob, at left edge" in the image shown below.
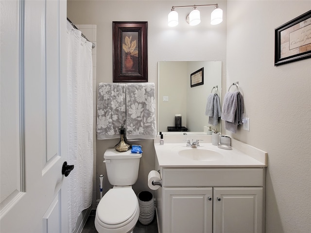
[[1,233],[67,233],[66,1],[1,0]]

